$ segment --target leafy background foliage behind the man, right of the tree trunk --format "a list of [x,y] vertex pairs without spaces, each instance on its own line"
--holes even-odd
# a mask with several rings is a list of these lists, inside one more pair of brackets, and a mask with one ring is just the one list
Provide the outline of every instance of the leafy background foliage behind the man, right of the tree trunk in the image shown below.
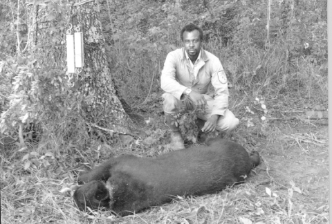
[[[120,94],[130,104],[140,104],[139,99],[151,93],[161,94],[158,74],[165,56],[181,46],[179,32],[190,22],[203,28],[203,47],[221,58],[231,83],[237,88],[248,86],[254,94],[268,91],[273,83],[279,88],[292,83],[294,76],[288,74],[300,68],[295,64],[299,57],[314,66],[326,64],[326,21],[317,20],[323,8],[309,1],[292,6],[293,10],[286,11],[291,18],[286,20],[287,35],[282,36],[284,8],[273,1],[270,43],[266,45],[266,1],[205,2],[203,6],[201,1],[183,1],[180,8],[173,1],[115,1],[109,6],[103,23],[111,43],[111,71],[117,86],[124,86]],[[128,96],[129,90],[137,94]]]

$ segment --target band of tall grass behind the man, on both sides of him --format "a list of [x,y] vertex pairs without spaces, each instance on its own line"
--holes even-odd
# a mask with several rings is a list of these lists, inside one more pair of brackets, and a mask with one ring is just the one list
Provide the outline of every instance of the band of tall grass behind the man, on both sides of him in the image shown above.
[[[181,44],[178,47],[182,47]],[[305,91],[312,95],[315,89],[327,96],[327,69],[308,62],[304,57],[290,62],[286,46],[274,44],[268,50],[247,46],[234,54],[232,45],[222,41],[207,41],[203,48],[221,60],[234,91],[246,90],[250,95],[270,95]],[[156,62],[151,54],[139,54],[118,41],[109,50],[111,71],[121,95],[131,104],[140,104],[151,93],[161,95],[160,73],[167,55],[167,48],[160,50]],[[127,94],[135,93],[135,94]]]

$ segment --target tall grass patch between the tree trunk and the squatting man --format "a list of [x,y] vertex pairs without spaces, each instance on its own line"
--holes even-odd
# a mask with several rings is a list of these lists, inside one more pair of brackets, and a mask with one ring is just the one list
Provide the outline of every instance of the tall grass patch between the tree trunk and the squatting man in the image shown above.
[[160,73],[166,53],[151,58],[147,50],[131,49],[126,42],[116,41],[107,55],[113,80],[129,104],[142,104],[149,95],[161,95]]

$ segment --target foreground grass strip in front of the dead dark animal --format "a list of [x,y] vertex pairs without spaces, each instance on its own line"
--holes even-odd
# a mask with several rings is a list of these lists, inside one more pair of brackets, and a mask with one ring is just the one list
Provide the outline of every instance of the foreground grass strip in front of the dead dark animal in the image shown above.
[[[70,196],[75,181],[72,172],[53,166],[25,171],[17,160],[4,158],[1,167],[5,167],[1,169],[1,223],[326,223],[329,214],[327,203],[308,203],[291,185],[280,185],[272,177],[255,180],[258,169],[268,171],[266,162],[245,185],[208,196],[178,197],[124,218],[110,212],[99,211],[95,216],[79,212]],[[67,192],[61,193],[65,187]]]

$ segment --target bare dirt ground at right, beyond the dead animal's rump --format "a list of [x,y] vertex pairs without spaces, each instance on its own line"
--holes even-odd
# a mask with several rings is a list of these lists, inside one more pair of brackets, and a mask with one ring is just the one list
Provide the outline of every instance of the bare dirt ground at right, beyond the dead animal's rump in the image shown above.
[[[279,194],[289,195],[293,189],[296,204],[293,209],[297,212],[305,210],[309,216],[326,214],[329,212],[327,105],[304,98],[275,102],[275,106],[270,106],[274,109],[270,111],[266,136],[253,141],[252,149],[259,151],[262,162],[251,180],[261,181]],[[321,119],[316,118],[317,114]]]

